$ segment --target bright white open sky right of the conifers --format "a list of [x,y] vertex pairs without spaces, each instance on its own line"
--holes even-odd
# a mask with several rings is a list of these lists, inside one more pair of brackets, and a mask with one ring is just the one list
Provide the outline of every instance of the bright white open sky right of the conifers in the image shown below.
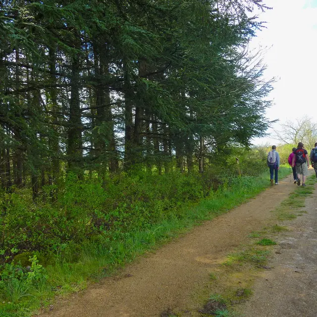
[[[280,123],[305,115],[317,121],[317,0],[264,0],[261,13],[266,28],[258,32],[251,48],[271,47],[264,55],[266,78],[276,77],[269,99],[274,105],[266,116]],[[314,120],[315,121],[315,120]],[[279,129],[279,123],[274,124]],[[268,132],[272,132],[271,129]],[[270,137],[254,144],[277,143]]]

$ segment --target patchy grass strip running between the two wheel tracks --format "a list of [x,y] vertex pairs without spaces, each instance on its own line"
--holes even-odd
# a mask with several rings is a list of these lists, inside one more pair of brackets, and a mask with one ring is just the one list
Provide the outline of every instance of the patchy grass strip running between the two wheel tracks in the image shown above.
[[[305,199],[314,193],[315,183],[314,175],[308,178],[306,187],[294,186],[294,192],[272,211],[275,223],[261,231],[251,232],[248,235],[249,243],[239,246],[235,253],[229,254],[226,260],[210,273],[208,288],[202,290],[201,295],[205,298],[205,304],[194,316],[241,316],[235,311],[235,306],[252,296],[255,279],[263,270],[270,269],[267,263],[272,256],[274,245],[277,244],[275,240],[289,230],[282,221],[292,220],[306,212]],[[202,298],[199,301],[202,302]]]

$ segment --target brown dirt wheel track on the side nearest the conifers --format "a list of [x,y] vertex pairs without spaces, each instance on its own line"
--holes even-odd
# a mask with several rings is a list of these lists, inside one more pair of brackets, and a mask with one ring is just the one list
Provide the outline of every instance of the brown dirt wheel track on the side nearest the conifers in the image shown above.
[[289,177],[284,179],[256,199],[128,265],[120,276],[106,278],[41,316],[154,317],[167,308],[185,312],[193,294],[209,280],[213,265],[243,243],[251,231],[261,229],[272,217],[270,211],[294,186]]

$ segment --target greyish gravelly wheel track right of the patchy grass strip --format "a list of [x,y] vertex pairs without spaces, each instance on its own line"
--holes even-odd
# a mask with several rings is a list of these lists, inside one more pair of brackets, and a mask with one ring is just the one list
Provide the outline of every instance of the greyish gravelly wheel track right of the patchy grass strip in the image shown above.
[[284,222],[291,230],[278,241],[272,269],[256,281],[254,296],[239,307],[245,317],[317,316],[316,194],[306,199],[305,211]]

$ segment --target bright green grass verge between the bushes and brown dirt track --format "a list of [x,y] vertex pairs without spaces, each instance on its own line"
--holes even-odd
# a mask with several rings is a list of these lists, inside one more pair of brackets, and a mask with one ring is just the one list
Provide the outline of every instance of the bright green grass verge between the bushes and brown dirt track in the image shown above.
[[[287,167],[280,169],[280,178],[289,174]],[[126,233],[113,233],[112,239],[104,242],[89,242],[83,245],[76,263],[63,262],[56,256],[56,264],[46,267],[48,278],[38,278],[32,285],[13,283],[2,285],[0,316],[27,317],[40,307],[47,307],[58,296],[79,291],[91,281],[113,274],[133,261],[137,256],[158,248],[179,234],[229,211],[256,196],[269,185],[266,172],[260,177],[242,177],[235,183],[213,192],[199,204],[184,207],[177,216],[171,216],[147,230],[135,229]],[[0,286],[1,287],[1,286]],[[3,297],[5,295],[5,298]],[[13,295],[14,294],[14,295]]]

